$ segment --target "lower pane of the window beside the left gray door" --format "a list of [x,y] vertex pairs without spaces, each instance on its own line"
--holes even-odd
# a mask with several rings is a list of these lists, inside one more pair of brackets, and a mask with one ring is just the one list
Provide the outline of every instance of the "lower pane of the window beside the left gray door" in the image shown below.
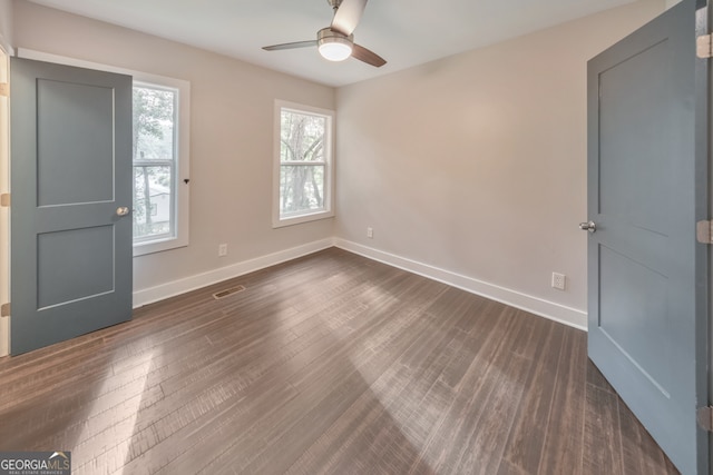
[[134,166],[134,239],[170,236],[172,167]]

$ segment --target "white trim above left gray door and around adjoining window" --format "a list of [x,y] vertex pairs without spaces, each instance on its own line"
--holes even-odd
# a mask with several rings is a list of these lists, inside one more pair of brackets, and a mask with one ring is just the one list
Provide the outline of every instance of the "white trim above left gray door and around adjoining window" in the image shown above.
[[[18,48],[18,57],[37,61],[55,62],[78,68],[95,69],[98,71],[118,72],[134,78],[134,82],[149,86],[164,86],[178,90],[178,144],[176,144],[176,236],[155,240],[134,243],[134,257],[146,254],[159,253],[188,246],[189,220],[188,209],[191,202],[191,187],[184,180],[189,180],[189,150],[191,150],[191,82],[183,79],[167,78],[165,76],[150,75],[98,62],[51,55],[26,48]],[[133,166],[133,165],[131,165]],[[133,174],[133,172],[131,172]]]

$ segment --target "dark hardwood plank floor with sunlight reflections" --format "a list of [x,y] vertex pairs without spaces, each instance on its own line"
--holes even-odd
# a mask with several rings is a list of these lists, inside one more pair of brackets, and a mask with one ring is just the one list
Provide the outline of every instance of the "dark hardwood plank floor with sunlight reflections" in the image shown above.
[[336,248],[2,358],[0,386],[0,451],[75,474],[677,473],[585,333]]

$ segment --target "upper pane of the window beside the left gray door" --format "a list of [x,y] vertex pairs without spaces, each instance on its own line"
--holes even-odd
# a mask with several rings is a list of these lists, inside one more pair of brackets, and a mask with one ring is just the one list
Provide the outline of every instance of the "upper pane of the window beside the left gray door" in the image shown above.
[[176,92],[134,88],[134,160],[173,160]]

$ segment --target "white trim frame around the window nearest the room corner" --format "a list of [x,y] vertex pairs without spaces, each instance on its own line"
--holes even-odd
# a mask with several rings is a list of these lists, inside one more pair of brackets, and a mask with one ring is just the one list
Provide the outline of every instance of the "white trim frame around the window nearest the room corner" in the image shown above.
[[[282,109],[291,109],[296,112],[316,113],[325,116],[328,118],[325,133],[325,160],[324,160],[324,209],[312,212],[301,212],[300,215],[292,217],[280,217],[280,174],[281,165],[280,151],[281,151],[281,116]],[[285,226],[299,225],[302,222],[316,221],[319,219],[328,219],[334,217],[334,130],[335,130],[335,112],[330,109],[321,109],[319,107],[305,106],[303,103],[289,102],[281,99],[275,99],[274,109],[274,150],[273,150],[273,172],[272,172],[272,227],[282,228]],[[304,164],[303,164],[304,165]],[[306,164],[309,165],[309,164]]]

